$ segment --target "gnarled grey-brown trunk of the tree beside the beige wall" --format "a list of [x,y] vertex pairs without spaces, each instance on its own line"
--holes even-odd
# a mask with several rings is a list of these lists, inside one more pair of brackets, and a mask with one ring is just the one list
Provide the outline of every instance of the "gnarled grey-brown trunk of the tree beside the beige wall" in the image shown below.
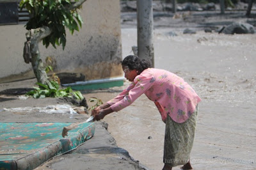
[[39,27],[28,31],[27,35],[30,35],[30,52],[31,52],[31,64],[35,73],[36,79],[42,84],[47,84],[48,77],[45,72],[44,65],[39,52],[38,44],[43,38],[51,34],[49,27]]

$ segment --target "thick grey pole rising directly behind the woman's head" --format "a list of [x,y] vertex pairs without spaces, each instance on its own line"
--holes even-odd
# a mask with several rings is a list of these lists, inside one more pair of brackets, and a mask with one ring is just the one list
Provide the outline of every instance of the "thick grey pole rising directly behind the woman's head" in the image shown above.
[[154,67],[154,22],[152,0],[137,0],[138,57],[152,62]]

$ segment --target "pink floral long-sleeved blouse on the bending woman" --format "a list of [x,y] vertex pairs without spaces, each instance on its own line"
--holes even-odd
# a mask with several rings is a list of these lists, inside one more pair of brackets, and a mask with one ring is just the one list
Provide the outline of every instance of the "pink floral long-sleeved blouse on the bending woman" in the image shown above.
[[164,122],[169,114],[173,121],[183,123],[201,101],[194,89],[179,76],[166,70],[147,68],[127,89],[107,103],[113,111],[120,111],[143,93],[156,104]]

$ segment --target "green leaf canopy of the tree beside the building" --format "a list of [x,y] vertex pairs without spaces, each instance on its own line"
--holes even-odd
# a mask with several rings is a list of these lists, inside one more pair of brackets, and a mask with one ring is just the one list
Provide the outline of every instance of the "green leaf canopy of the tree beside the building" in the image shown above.
[[79,31],[79,26],[83,24],[81,16],[78,14],[78,8],[69,10],[68,6],[78,0],[22,0],[20,9],[26,8],[31,18],[26,24],[26,29],[35,29],[47,26],[51,29],[51,35],[43,39],[43,44],[47,48],[51,43],[54,48],[56,45],[66,45],[67,27],[71,34]]

